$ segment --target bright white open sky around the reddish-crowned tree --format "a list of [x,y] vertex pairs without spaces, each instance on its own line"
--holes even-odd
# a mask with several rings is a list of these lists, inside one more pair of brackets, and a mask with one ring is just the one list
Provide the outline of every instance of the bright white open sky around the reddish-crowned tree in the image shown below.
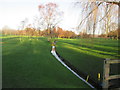
[[80,8],[72,4],[75,0],[0,0],[0,29],[4,26],[18,29],[25,18],[28,18],[28,23],[32,23],[33,18],[39,14],[38,5],[48,2],[57,3],[64,12],[60,27],[73,30],[78,25]]

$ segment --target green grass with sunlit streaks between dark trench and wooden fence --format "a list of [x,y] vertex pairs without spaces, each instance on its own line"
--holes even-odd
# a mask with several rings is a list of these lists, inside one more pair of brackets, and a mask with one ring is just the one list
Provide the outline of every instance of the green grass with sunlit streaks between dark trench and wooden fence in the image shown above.
[[[58,39],[57,52],[80,71],[98,81],[98,73],[103,75],[106,58],[120,59],[118,40],[111,39]],[[113,66],[113,65],[112,65]],[[118,66],[111,68],[110,74],[118,74]]]

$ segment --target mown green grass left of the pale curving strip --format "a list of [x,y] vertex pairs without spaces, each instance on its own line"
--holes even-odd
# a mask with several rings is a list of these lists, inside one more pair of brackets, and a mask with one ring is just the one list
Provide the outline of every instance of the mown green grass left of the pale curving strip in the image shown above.
[[[2,38],[3,88],[90,88],[50,53],[46,38]],[[62,50],[62,49],[60,49]]]

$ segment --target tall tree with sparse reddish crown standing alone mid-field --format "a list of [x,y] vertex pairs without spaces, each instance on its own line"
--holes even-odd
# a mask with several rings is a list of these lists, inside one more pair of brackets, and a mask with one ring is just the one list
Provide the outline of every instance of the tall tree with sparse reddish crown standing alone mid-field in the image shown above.
[[58,10],[58,5],[55,3],[39,5],[39,13],[42,18],[44,29],[48,30],[48,35],[52,35],[52,30],[61,21],[62,12]]

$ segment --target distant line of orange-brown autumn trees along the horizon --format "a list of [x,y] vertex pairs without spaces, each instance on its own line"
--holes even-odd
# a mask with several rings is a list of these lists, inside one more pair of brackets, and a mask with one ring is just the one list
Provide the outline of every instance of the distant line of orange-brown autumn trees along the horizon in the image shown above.
[[[27,27],[24,30],[13,30],[13,29],[2,29],[3,35],[22,35],[22,36],[42,36],[42,37],[57,37],[57,38],[93,38],[92,34],[88,34],[86,32],[80,32],[79,34],[76,34],[73,31],[69,30],[63,30],[60,27],[53,28],[51,32],[50,30],[37,30],[35,28]],[[111,39],[117,39],[120,35],[117,36],[117,33],[119,30],[112,30],[108,34],[100,34],[95,35],[94,38],[111,38]],[[120,32],[119,32],[120,33]]]

